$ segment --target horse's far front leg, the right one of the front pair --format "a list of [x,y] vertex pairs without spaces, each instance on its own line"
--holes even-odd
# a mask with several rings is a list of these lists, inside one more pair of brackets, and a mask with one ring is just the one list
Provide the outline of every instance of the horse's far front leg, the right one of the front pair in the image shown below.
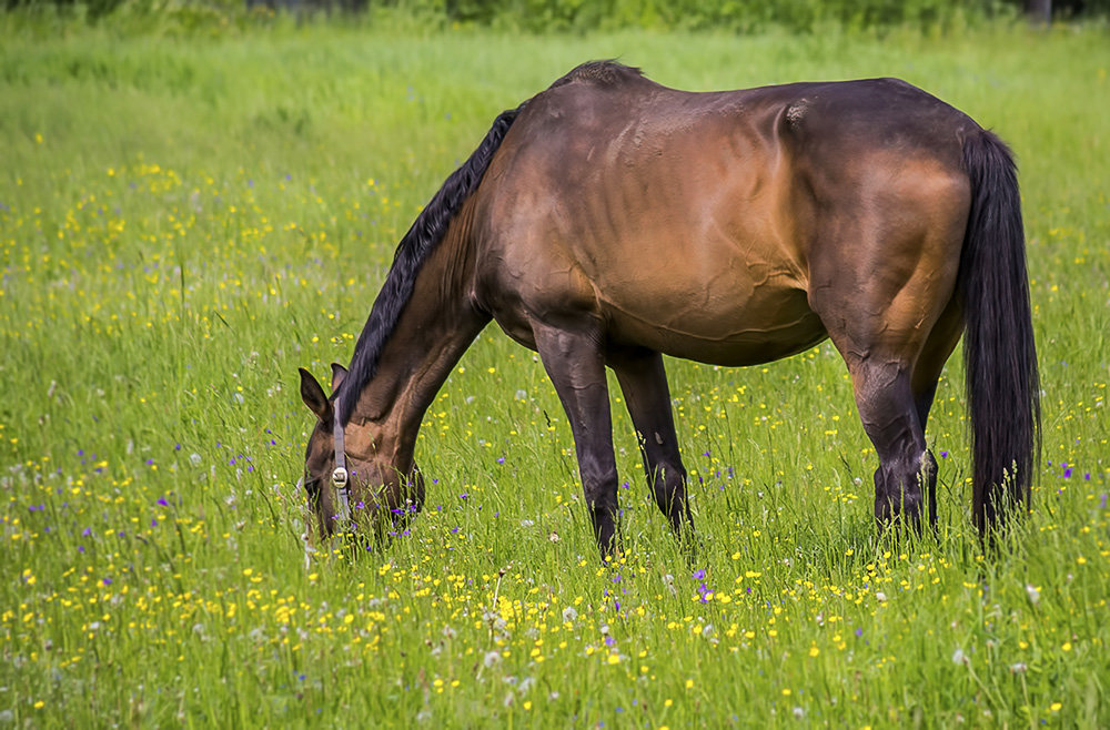
[[650,349],[624,348],[610,352],[606,362],[620,383],[655,504],[670,520],[675,534],[689,538],[694,534],[694,518],[686,499],[686,467],[678,453],[663,355]]

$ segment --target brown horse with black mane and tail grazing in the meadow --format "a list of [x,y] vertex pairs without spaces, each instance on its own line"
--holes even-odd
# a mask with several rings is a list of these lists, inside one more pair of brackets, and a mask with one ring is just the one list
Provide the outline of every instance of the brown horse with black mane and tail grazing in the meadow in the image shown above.
[[879,458],[875,516],[920,528],[925,426],[963,333],[975,524],[1028,505],[1040,413],[1015,165],[902,81],[692,93],[593,62],[502,113],[401,241],[332,396],[301,371],[316,531],[380,536],[420,510],[421,419],[491,318],[555,385],[603,555],[606,366],[659,509],[693,530],[660,353],[753,365],[831,338]]

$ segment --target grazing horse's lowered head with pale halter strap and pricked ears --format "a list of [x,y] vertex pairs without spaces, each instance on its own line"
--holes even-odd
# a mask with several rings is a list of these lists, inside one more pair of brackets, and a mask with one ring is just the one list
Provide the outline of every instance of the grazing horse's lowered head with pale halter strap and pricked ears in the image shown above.
[[331,398],[311,373],[300,372],[301,399],[316,416],[304,453],[304,487],[320,535],[357,527],[380,538],[418,511],[424,498],[423,477],[411,457],[407,464],[397,463],[396,439],[390,438],[382,424],[355,418],[343,427],[344,485],[344,475],[336,474],[334,392],[346,369],[332,364]]

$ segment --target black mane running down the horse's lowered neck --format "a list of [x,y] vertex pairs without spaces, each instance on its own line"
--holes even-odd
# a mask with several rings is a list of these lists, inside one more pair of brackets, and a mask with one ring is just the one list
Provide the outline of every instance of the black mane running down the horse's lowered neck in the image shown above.
[[478,148],[471,153],[471,156],[458,170],[451,173],[440,192],[432,196],[421,214],[416,216],[412,227],[401,239],[401,243],[397,244],[397,251],[393,256],[390,273],[385,277],[385,284],[379,292],[377,298],[374,300],[374,306],[370,311],[366,325],[363,327],[362,334],[359,335],[354,356],[351,358],[350,373],[335,396],[341,424],[346,425],[347,417],[359,399],[359,394],[374,377],[382,347],[393,333],[405,304],[412,296],[416,274],[420,273],[421,266],[443,240],[451,219],[463,206],[466,199],[477,190],[486,168],[490,166],[490,161],[493,160],[494,152],[501,146],[508,128],[512,126],[525,104],[504,111],[494,120],[493,126],[486,132],[485,139],[478,144]]

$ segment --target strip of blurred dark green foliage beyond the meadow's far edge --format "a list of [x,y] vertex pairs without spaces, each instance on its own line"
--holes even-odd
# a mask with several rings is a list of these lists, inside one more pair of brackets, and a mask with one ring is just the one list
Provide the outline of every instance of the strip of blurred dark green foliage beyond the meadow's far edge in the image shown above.
[[[178,19],[186,27],[251,22],[274,13],[380,24],[397,17],[430,27],[476,24],[527,32],[698,30],[751,33],[912,27],[952,31],[1021,14],[1023,0],[4,0],[9,10],[82,21]],[[1106,17],[1110,0],[1057,3],[1057,16]]]

